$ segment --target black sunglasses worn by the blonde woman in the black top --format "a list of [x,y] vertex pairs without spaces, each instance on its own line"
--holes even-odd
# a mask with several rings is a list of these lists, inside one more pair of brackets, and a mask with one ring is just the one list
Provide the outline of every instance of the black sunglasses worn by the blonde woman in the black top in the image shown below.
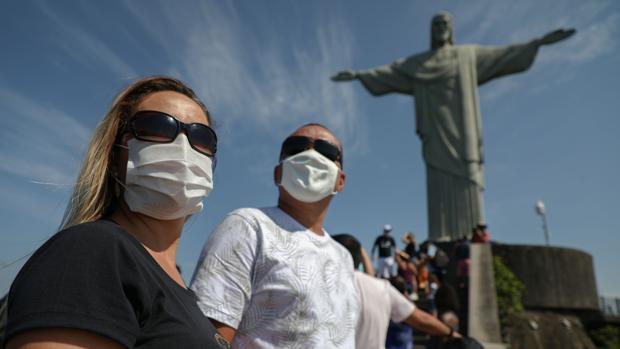
[[130,132],[141,141],[172,143],[181,131],[185,131],[192,148],[208,157],[215,157],[217,135],[211,127],[199,123],[186,124],[160,111],[141,110],[135,113],[123,133]]

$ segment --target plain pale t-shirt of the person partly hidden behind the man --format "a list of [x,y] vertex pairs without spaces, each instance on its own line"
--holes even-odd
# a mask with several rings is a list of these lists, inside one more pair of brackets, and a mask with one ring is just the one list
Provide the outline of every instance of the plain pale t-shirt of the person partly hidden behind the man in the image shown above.
[[387,280],[356,271],[355,284],[362,307],[355,330],[356,347],[385,349],[390,320],[404,321],[415,310],[415,305]]

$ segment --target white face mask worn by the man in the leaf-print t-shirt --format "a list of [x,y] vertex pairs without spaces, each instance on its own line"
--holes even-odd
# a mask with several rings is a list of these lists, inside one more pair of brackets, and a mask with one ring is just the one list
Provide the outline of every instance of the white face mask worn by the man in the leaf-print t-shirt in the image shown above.
[[336,194],[338,166],[316,150],[289,156],[281,164],[280,185],[295,199],[311,203]]

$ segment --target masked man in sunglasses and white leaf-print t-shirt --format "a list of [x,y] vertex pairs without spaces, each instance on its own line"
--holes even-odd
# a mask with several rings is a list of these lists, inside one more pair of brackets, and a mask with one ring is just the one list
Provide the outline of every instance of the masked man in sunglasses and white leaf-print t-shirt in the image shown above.
[[278,206],[239,209],[215,228],[190,288],[234,348],[354,348],[351,256],[323,229],[342,191],[342,145],[307,124],[283,143]]

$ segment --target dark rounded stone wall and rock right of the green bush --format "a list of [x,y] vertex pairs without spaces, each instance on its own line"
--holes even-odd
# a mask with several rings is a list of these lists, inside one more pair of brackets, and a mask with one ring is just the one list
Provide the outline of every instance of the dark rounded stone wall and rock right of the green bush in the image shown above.
[[492,250],[525,286],[525,312],[512,315],[503,329],[511,348],[596,348],[585,329],[601,316],[590,254],[507,244]]

